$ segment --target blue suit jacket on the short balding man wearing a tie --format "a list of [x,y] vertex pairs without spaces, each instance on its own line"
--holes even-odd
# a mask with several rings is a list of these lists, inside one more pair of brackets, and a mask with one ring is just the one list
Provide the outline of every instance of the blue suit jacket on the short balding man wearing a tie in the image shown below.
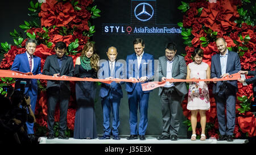
[[[109,61],[101,62],[100,64],[101,68],[98,71],[98,78],[104,79],[110,77],[110,68],[109,68]],[[114,78],[123,78],[125,77],[125,65],[122,62],[115,61],[115,67],[114,67],[115,76]],[[109,94],[109,91],[112,93],[113,98],[122,98],[123,92],[121,84],[124,82],[112,82],[110,84],[108,83],[102,83],[101,89],[100,89],[100,97],[104,98]]]

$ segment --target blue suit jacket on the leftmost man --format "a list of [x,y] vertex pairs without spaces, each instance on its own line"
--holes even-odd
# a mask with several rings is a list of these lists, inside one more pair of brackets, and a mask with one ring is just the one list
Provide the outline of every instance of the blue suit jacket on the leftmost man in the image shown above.
[[[34,68],[32,70],[33,75],[42,74],[41,73],[41,58],[37,56],[34,57]],[[28,62],[27,53],[22,53],[16,55],[11,70],[16,70],[23,73],[30,72],[30,64]],[[25,92],[27,93],[28,86],[31,85],[32,94],[38,94],[38,82],[37,79],[16,79],[15,89],[20,89],[20,81],[27,81]]]

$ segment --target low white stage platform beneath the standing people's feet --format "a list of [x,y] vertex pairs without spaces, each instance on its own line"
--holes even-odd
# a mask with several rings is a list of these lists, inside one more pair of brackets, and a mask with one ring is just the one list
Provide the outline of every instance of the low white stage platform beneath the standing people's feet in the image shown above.
[[217,141],[216,139],[207,139],[205,141],[191,141],[190,139],[172,140],[157,140],[156,137],[147,136],[146,140],[127,140],[126,137],[121,137],[121,140],[99,140],[99,139],[73,139],[68,140],[52,139],[48,140],[47,137],[40,137],[39,144],[245,144],[246,139],[234,139],[234,141]]

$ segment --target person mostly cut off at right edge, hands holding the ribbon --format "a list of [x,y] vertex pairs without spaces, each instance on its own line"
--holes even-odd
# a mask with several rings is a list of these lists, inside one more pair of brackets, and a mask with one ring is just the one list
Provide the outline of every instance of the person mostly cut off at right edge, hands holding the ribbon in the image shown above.
[[254,102],[251,103],[251,111],[255,111],[256,110],[256,70],[254,71],[240,70],[238,73],[246,74],[247,76],[254,76],[252,78],[247,78],[247,79],[240,78],[237,81],[241,83],[245,82],[247,85],[250,85],[251,83],[253,83]]

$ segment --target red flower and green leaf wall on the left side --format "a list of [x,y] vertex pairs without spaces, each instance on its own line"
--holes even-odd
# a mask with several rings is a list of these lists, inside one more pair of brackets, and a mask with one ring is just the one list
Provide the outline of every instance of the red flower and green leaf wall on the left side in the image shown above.
[[[0,53],[4,58],[0,64],[1,69],[10,69],[14,58],[20,53],[24,53],[26,49],[26,41],[33,38],[38,41],[38,46],[34,53],[35,56],[42,58],[41,69],[43,70],[44,61],[47,56],[55,55],[54,45],[58,41],[64,41],[68,47],[68,56],[73,58],[74,64],[77,57],[80,56],[82,47],[87,43],[94,34],[94,26],[90,24],[90,19],[100,16],[100,10],[97,6],[92,6],[93,0],[46,0],[38,2],[30,2],[30,14],[32,20],[24,20],[24,24],[19,27],[24,33],[10,32],[14,38],[14,44],[1,43]],[[1,78],[1,85],[14,85],[11,78]],[[47,128],[47,96],[46,96],[46,80],[38,82],[39,93],[36,103],[35,116],[36,135],[42,136],[46,134]],[[1,88],[2,89],[2,88]],[[74,128],[76,114],[76,98],[75,98],[75,82],[71,82],[71,98],[69,100],[69,108],[67,115],[68,135]],[[57,125],[59,122],[59,107],[56,107],[55,114],[56,136],[58,134]]]

